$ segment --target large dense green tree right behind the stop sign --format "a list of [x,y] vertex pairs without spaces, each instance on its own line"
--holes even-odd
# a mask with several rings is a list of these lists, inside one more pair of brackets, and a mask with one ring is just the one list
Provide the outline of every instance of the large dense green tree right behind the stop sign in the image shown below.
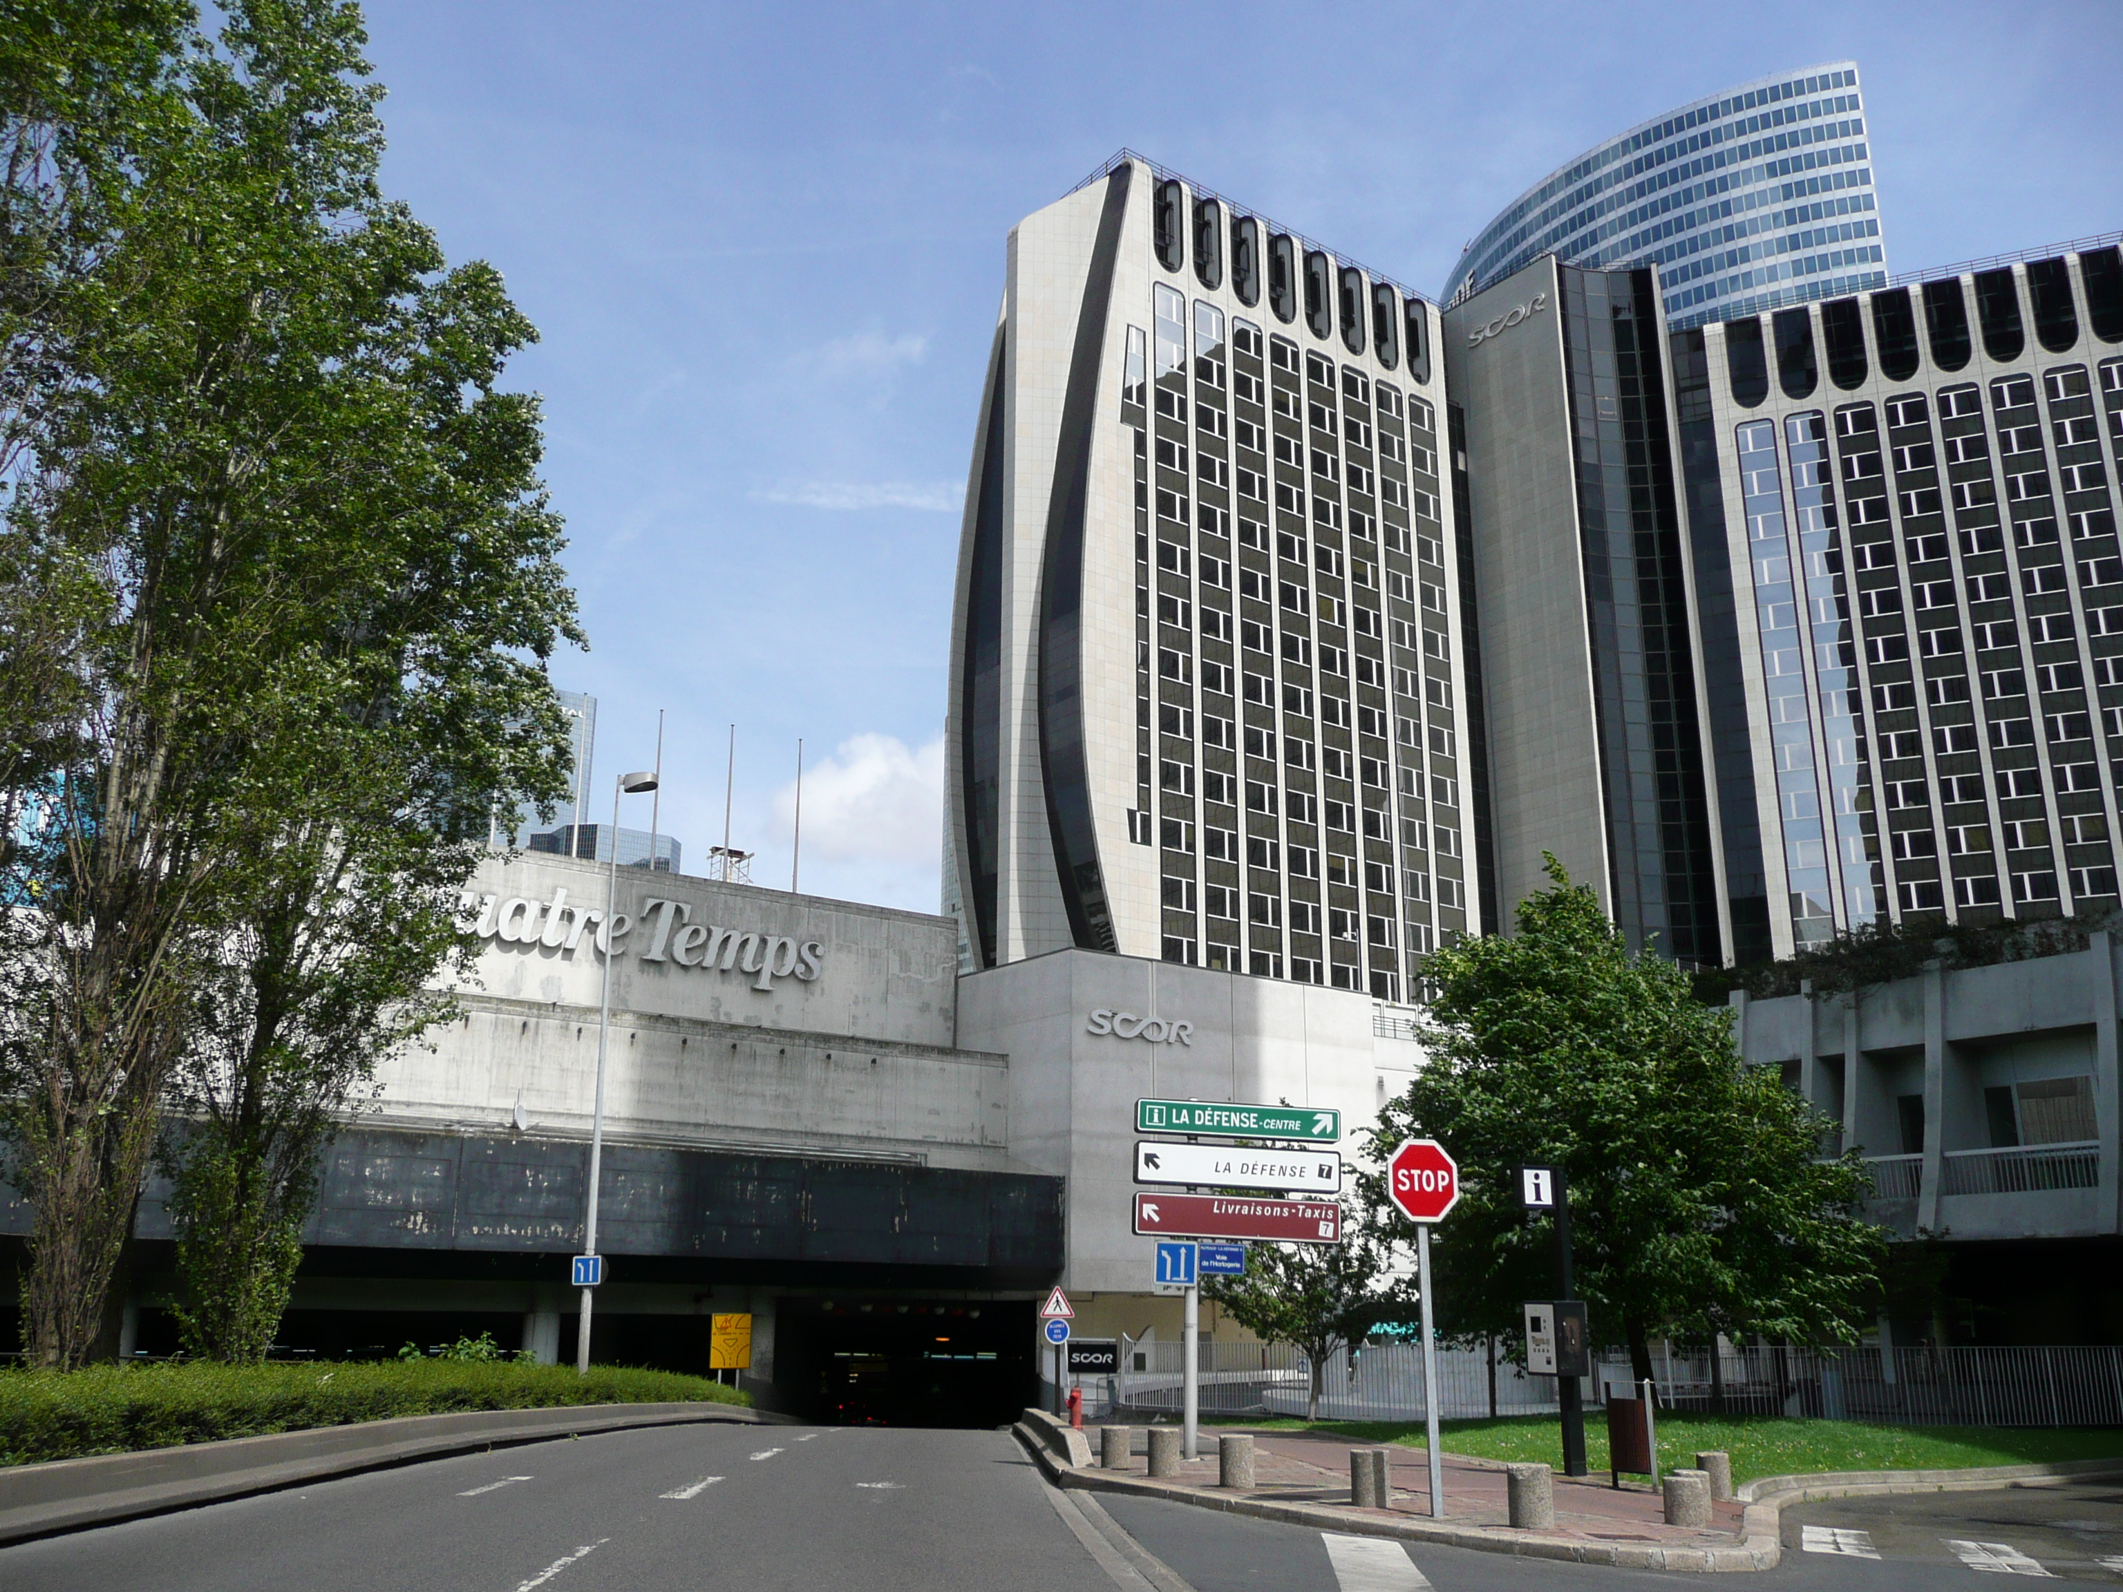
[[[1522,1301],[1554,1295],[1552,1227],[1518,1206],[1531,1161],[1567,1170],[1577,1293],[1635,1375],[1658,1329],[1856,1342],[1883,1252],[1853,1214],[1862,1161],[1819,1159],[1830,1123],[1775,1070],[1741,1066],[1728,1015],[1671,962],[1633,957],[1554,858],[1548,875],[1518,934],[1429,957],[1429,1063],[1371,1136],[1380,1159],[1427,1134],[1461,1165],[1433,1240],[1442,1320],[1516,1337]],[[1378,1178],[1363,1187],[1412,1238]]]

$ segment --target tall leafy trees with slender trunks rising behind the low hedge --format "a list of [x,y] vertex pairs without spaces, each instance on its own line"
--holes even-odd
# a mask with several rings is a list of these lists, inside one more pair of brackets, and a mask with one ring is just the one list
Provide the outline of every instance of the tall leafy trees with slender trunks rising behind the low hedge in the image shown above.
[[469,957],[488,815],[565,783],[543,660],[582,637],[537,405],[495,391],[533,331],[378,191],[357,8],[223,17],[157,57],[166,115],[102,178],[127,291],[55,338],[8,503],[11,546],[98,577],[6,885],[36,906],[4,1095],[55,1365],[166,1106],[187,1339],[263,1352],[321,1146]]

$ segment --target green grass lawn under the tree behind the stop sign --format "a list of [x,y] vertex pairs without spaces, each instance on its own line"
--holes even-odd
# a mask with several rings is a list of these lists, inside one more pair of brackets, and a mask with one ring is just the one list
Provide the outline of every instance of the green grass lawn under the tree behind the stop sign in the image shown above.
[[[1316,1431],[1359,1443],[1425,1448],[1422,1422],[1408,1420],[1229,1420],[1250,1431]],[[1450,1454],[1501,1460],[1548,1460],[1560,1469],[1563,1437],[1554,1416],[1448,1420]],[[2044,1460],[2123,1456],[2115,1426],[1868,1426],[1856,1420],[1783,1420],[1779,1416],[1662,1416],[1658,1452],[1664,1465],[1688,1465],[1701,1450],[1732,1456],[1732,1479],[1807,1475],[1813,1471],[1934,1471],[1970,1465],[2034,1465]],[[1607,1469],[1607,1418],[1586,1412],[1586,1460]]]

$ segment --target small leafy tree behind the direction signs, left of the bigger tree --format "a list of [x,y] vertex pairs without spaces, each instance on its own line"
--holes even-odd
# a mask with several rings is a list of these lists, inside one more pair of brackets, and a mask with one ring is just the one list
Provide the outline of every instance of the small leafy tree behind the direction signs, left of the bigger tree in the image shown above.
[[1340,1244],[1250,1244],[1244,1276],[1204,1278],[1202,1297],[1253,1335],[1304,1352],[1312,1365],[1306,1420],[1318,1420],[1327,1361],[1395,1314],[1380,1286],[1386,1259],[1386,1248],[1344,1210]]

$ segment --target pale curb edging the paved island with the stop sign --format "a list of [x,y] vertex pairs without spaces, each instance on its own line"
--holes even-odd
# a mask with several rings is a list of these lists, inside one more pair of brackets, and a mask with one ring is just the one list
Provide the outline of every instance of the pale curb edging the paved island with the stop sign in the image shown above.
[[1783,1560],[1781,1522],[1785,1505],[1809,1499],[1843,1499],[1881,1492],[1977,1492],[2021,1482],[2068,1479],[2076,1475],[2123,1475],[2117,1460],[2064,1460],[2057,1465],[1989,1465],[1970,1471],[1832,1471],[1822,1475],[1764,1475],[1734,1490],[1747,1507],[1741,1518],[1741,1539],[1730,1547],[1660,1547],[1635,1543],[1586,1543],[1575,1537],[1548,1537],[1512,1526],[1433,1526],[1427,1520],[1365,1518],[1316,1503],[1270,1503],[1265,1499],[1219,1496],[1199,1488],[1115,1475],[1098,1469],[1062,1465],[1045,1446],[1040,1433],[1025,1422],[1011,1429],[1040,1471],[1059,1488],[1087,1492],[1127,1492],[1140,1499],[1166,1499],[1195,1509],[1219,1509],[1255,1520],[1276,1520],[1287,1526],[1312,1526],[1357,1537],[1395,1537],[1414,1543],[1473,1547],[1484,1554],[1518,1558],[1552,1558],[1575,1564],[1611,1564],[1624,1571],[1768,1571]]

